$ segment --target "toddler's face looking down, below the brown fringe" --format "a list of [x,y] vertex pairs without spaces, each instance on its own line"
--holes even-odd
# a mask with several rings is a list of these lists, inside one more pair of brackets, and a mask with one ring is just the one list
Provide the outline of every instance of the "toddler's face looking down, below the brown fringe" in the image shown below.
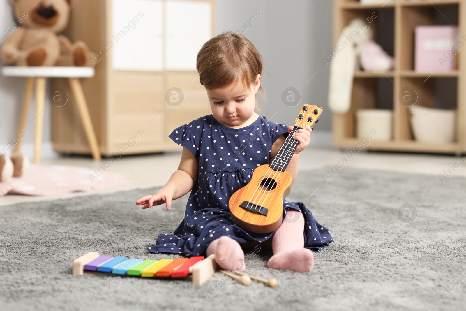
[[256,93],[260,86],[260,75],[249,90],[243,90],[243,85],[236,81],[226,88],[207,90],[212,116],[220,124],[229,127],[240,127],[247,123],[254,114]]

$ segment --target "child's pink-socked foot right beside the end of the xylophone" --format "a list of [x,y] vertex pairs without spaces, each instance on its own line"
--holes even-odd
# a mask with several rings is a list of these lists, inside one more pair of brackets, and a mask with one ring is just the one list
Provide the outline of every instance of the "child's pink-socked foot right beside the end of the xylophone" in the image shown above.
[[223,235],[213,240],[206,250],[207,256],[215,254],[215,261],[224,270],[246,270],[244,252],[240,243]]

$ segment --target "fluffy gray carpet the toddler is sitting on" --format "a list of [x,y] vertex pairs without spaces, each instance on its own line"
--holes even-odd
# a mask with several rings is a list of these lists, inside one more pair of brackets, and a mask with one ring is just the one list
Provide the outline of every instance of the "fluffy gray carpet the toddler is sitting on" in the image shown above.
[[[176,257],[147,253],[156,233],[177,226],[164,206],[136,206],[147,188],[0,207],[0,310],[464,310],[466,179],[343,168],[325,184],[323,173],[300,171],[288,196],[335,240],[315,253],[312,272],[267,269],[271,250],[246,252],[247,272],[275,277],[275,289],[219,272],[204,285],[72,276],[73,259],[89,251]],[[49,218],[54,204],[68,210],[65,221]],[[415,213],[398,216],[404,204],[415,207],[414,221]]]

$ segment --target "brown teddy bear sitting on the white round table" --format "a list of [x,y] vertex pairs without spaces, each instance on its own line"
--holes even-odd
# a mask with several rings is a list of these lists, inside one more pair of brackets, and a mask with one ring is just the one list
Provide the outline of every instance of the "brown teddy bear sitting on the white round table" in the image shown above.
[[10,0],[20,25],[7,36],[0,56],[17,66],[92,66],[94,52],[86,43],[64,35],[73,0]]

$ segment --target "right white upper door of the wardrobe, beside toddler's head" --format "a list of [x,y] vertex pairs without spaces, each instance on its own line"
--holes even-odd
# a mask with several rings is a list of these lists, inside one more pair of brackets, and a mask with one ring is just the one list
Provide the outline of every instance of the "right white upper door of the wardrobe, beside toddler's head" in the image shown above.
[[212,38],[212,3],[167,0],[166,35],[166,70],[196,70],[196,56]]

